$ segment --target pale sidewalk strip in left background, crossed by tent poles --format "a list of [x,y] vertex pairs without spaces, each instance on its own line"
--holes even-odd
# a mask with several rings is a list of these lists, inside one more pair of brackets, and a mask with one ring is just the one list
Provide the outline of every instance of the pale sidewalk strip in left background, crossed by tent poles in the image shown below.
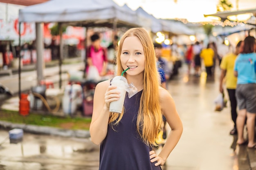
[[[12,75],[1,75],[1,84],[9,89],[13,95],[18,94],[18,68],[10,68],[12,70]],[[61,66],[61,79],[62,86],[65,81],[69,79],[67,76],[68,71],[82,71],[84,69],[84,63],[81,58],[71,58],[63,60]],[[59,87],[59,75],[60,67],[58,65],[58,60],[48,62],[45,64],[45,69],[43,70],[43,75],[45,80],[50,80],[54,83],[54,87]],[[29,91],[32,86],[37,86],[37,72],[36,64],[25,65],[21,69],[21,91]],[[0,97],[1,99],[1,97]]]

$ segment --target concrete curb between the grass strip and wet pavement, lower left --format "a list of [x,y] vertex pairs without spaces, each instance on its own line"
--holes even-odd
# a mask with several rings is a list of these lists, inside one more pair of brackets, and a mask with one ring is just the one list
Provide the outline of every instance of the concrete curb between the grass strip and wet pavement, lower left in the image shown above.
[[76,137],[76,138],[90,138],[89,130],[65,130],[60,128],[53,128],[49,126],[36,126],[27,124],[13,124],[7,121],[0,121],[0,127],[5,129],[20,128],[24,132],[44,134],[44,135],[54,135],[61,137]]

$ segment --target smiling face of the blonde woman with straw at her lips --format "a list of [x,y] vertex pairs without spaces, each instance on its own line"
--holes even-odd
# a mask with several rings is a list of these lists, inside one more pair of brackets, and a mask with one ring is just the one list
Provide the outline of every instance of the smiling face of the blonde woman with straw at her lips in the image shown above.
[[125,38],[121,49],[120,60],[124,70],[130,67],[126,71],[128,75],[144,75],[145,54],[139,38],[135,36]]

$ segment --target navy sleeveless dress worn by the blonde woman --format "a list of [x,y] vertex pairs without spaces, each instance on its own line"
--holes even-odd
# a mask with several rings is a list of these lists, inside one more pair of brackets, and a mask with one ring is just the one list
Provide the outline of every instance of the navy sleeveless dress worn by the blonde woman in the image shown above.
[[161,170],[151,163],[147,146],[137,132],[137,113],[142,91],[124,100],[125,113],[114,129],[108,125],[108,134],[101,142],[99,170]]

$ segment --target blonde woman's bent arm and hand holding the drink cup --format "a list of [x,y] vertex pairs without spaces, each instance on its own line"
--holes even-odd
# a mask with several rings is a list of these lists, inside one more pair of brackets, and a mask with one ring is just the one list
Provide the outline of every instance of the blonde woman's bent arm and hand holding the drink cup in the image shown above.
[[110,81],[106,80],[97,84],[93,99],[93,113],[90,124],[91,140],[99,145],[106,137],[108,132],[108,120],[110,116],[110,102],[119,99],[119,92],[116,86],[110,86]]

